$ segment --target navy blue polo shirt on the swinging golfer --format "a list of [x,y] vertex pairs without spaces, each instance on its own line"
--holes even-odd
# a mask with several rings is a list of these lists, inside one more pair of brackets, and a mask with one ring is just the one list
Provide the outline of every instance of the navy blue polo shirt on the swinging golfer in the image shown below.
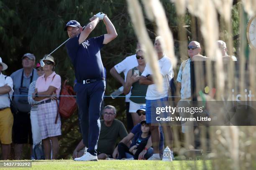
[[92,37],[79,45],[80,34],[70,38],[66,47],[74,65],[77,82],[87,79],[105,77],[100,49],[103,47],[104,35]]

